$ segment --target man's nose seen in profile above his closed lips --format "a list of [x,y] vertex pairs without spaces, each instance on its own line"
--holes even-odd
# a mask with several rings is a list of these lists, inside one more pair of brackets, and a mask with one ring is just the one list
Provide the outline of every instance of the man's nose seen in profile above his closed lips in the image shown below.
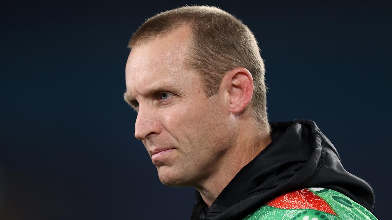
[[151,110],[139,108],[135,122],[135,137],[139,140],[148,139],[161,132],[158,115]]

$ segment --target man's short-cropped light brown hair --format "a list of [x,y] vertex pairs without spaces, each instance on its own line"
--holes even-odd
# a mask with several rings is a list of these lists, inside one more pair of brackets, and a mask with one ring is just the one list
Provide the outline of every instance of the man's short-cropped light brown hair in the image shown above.
[[208,97],[218,93],[225,73],[244,67],[253,77],[252,106],[258,121],[268,125],[265,67],[252,31],[233,15],[210,6],[184,6],[147,19],[129,41],[140,45],[172,32],[181,25],[192,31],[189,67],[200,72]]

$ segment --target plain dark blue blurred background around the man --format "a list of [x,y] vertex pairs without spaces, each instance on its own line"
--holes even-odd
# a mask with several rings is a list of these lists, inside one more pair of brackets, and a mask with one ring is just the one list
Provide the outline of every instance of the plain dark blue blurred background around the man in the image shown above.
[[374,214],[390,217],[387,1],[67,1],[0,9],[0,219],[189,217],[193,189],[160,183],[122,98],[132,32],[185,4],[218,5],[250,27],[270,121],[316,121],[345,168],[373,186]]

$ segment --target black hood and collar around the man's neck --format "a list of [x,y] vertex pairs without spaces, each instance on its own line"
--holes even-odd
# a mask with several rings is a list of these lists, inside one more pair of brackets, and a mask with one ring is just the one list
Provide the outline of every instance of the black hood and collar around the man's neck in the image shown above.
[[196,191],[192,220],[242,219],[283,193],[309,187],[339,191],[372,211],[372,188],[343,168],[338,151],[313,121],[270,126],[272,142],[237,173],[210,208]]

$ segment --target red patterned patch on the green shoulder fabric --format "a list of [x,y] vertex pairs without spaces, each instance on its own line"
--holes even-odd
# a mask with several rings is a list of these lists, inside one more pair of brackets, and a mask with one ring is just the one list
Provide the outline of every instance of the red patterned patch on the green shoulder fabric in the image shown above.
[[283,194],[269,201],[266,205],[279,209],[315,209],[336,215],[327,202],[314,195],[308,189],[300,189]]

